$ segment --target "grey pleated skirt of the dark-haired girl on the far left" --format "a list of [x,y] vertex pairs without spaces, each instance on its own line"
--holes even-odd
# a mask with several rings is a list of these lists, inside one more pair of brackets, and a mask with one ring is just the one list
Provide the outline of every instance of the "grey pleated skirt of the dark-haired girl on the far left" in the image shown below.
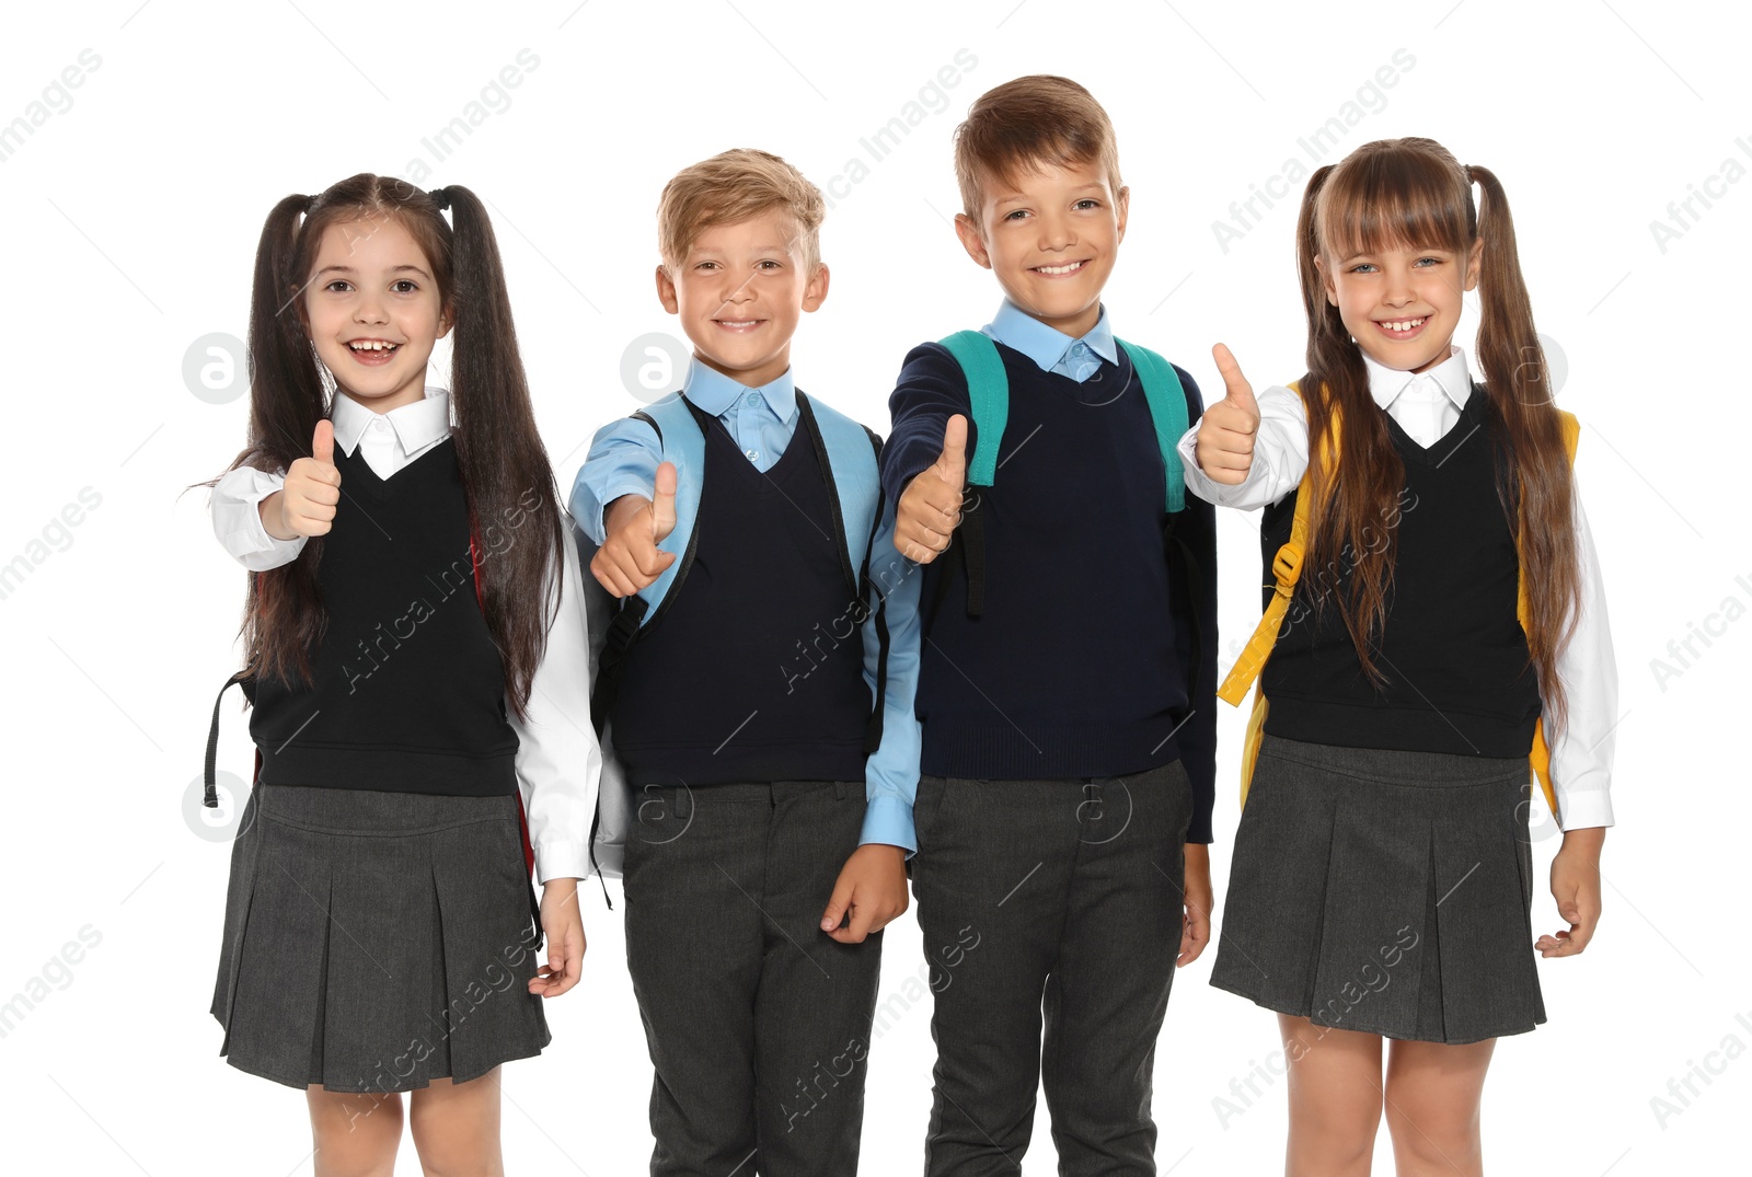
[[212,1014],[294,1088],[466,1082],[548,1044],[517,797],[256,785]]

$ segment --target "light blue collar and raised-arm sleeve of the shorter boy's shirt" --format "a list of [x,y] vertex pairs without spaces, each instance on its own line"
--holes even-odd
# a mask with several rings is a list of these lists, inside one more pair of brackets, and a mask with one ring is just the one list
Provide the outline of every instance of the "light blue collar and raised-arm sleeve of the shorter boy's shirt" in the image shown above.
[[[724,422],[755,469],[773,469],[797,433],[797,387],[790,368],[771,384],[750,389],[694,359],[687,368],[682,396]],[[603,543],[603,511],[624,494],[652,496],[662,448],[641,422],[625,429],[603,429],[578,471],[573,511],[590,539]],[[582,513],[578,513],[582,511]]]

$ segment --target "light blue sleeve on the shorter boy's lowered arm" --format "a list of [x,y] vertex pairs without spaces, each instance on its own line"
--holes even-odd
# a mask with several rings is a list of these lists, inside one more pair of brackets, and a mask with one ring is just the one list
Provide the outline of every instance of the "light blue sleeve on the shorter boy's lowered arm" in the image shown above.
[[[936,461],[936,455],[932,455]],[[913,830],[913,799],[918,793],[918,755],[922,727],[913,702],[918,688],[918,657],[923,645],[918,624],[918,587],[923,569],[894,546],[894,504],[883,503],[881,525],[871,541],[871,608],[864,624],[864,681],[876,697],[876,674],[887,674],[883,690],[881,744],[864,767],[864,832],[858,844],[901,846],[908,856],[918,851]],[[876,608],[880,603],[880,610]],[[887,664],[881,659],[881,632],[888,631]]]

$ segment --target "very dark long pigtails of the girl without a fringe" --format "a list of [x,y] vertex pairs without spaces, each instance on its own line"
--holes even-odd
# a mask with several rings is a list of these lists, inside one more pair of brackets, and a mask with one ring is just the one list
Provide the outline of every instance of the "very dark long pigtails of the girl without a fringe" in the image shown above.
[[[534,543],[478,545],[482,610],[505,660],[505,694],[522,716],[547,648],[547,583],[550,573],[555,588],[559,583],[561,515],[517,354],[499,247],[471,191],[450,186],[424,193],[405,180],[361,173],[319,196],[287,196],[273,207],[256,250],[249,308],[249,445],[231,469],[286,469],[310,457],[315,426],[329,415],[329,391],[298,300],[322,233],[380,217],[394,217],[426,252],[456,322],[450,403],[470,522],[477,536],[506,522],[534,529]],[[321,559],[317,536],[291,564],[251,578],[244,648],[254,673],[308,681],[310,652],[328,627],[317,585]],[[555,592],[555,608],[557,601]]]

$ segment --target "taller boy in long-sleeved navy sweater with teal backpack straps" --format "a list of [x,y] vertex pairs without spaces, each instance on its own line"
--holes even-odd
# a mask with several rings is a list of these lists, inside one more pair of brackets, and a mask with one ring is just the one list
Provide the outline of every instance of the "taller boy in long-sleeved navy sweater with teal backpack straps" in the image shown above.
[[[1004,291],[974,352],[1000,368],[913,349],[883,450],[895,543],[927,564],[913,895],[946,983],[925,1172],[1014,1172],[1044,1082],[1060,1173],[1153,1173],[1156,1035],[1211,928],[1216,548],[1209,506],[1169,511],[1177,434],[1144,373],[1186,419],[1198,389],[1109,329],[1128,193],[1086,89],[988,91],[955,166],[957,235]],[[971,378],[1007,384],[983,469]]]

